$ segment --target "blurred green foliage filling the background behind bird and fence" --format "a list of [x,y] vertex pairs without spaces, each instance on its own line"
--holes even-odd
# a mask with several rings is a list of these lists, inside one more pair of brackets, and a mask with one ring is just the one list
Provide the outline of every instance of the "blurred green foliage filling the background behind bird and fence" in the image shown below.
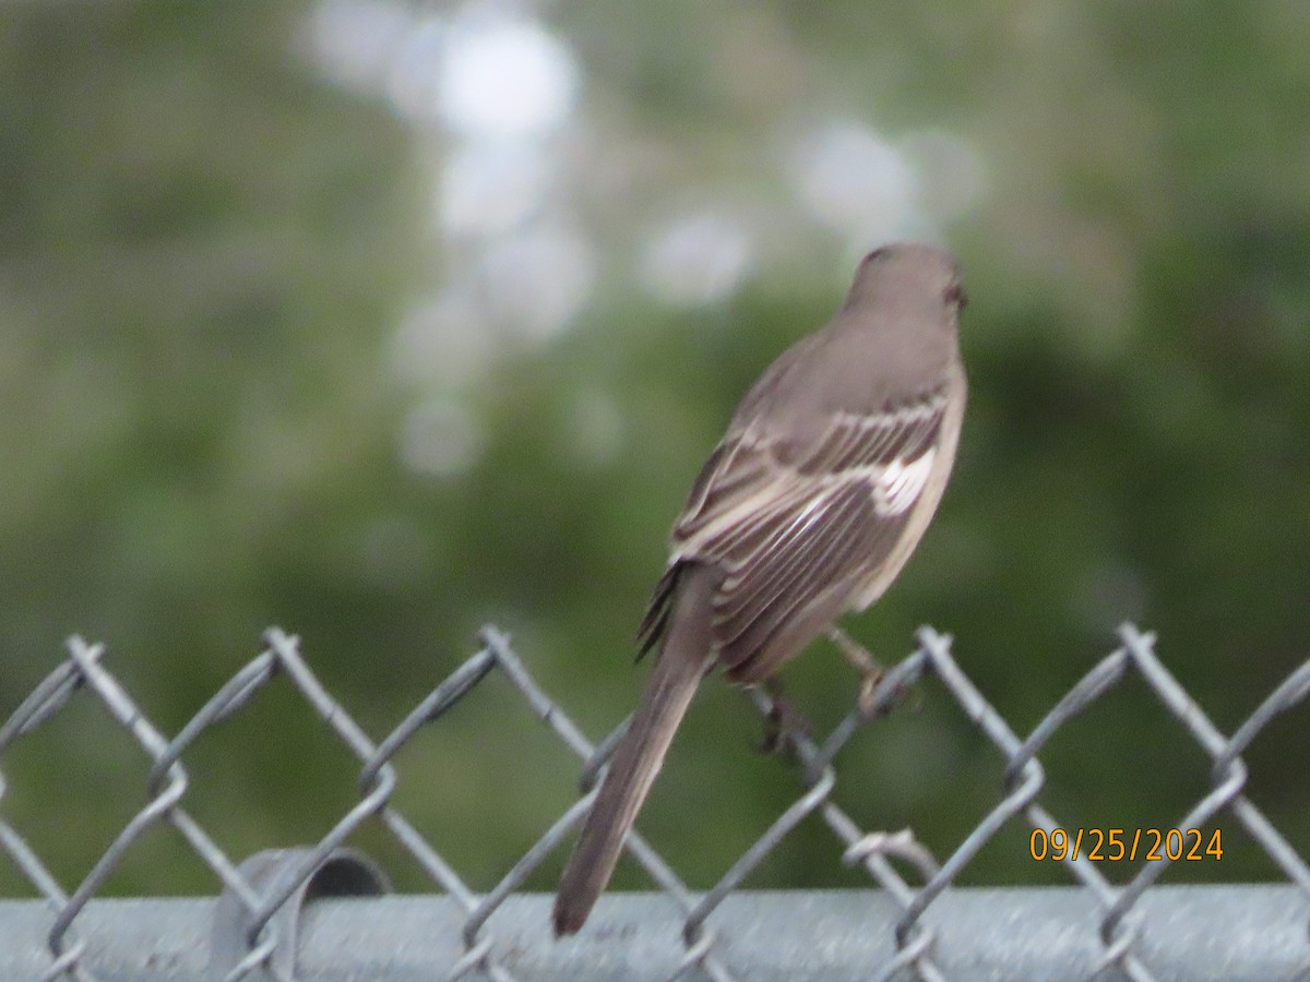
[[[0,714],[76,631],[107,642],[113,670],[176,732],[279,623],[381,736],[494,619],[599,737],[635,698],[631,635],[690,478],[758,371],[827,319],[849,263],[832,237],[776,227],[769,247],[794,274],[720,304],[668,306],[616,279],[566,334],[504,340],[476,384],[438,388],[477,420],[468,470],[407,470],[406,418],[434,393],[397,378],[390,340],[448,258],[428,219],[427,157],[444,144],[296,54],[310,10],[0,13]],[[907,573],[850,625],[875,652],[908,652],[920,622],[952,632],[1019,733],[1123,619],[1159,632],[1229,731],[1310,656],[1303,4],[571,0],[550,26],[587,103],[621,106],[706,183],[762,155],[778,113],[808,111],[782,106],[795,93],[893,131],[948,128],[985,161],[985,194],[948,229],[972,297],[960,460]],[[734,88],[722,55],[743,31],[791,60]],[[765,82],[782,88],[761,96]],[[660,207],[584,204],[601,251]],[[616,414],[605,453],[584,439],[597,393]],[[819,728],[854,695],[831,651],[785,678]],[[912,826],[945,855],[997,800],[1001,769],[924,689],[838,759],[838,799],[865,827]],[[398,761],[400,807],[479,888],[572,797],[576,762],[525,716],[491,683]],[[795,793],[751,753],[757,727],[740,695],[707,686],[643,816],[694,886]],[[1301,712],[1247,755],[1251,796],[1302,851],[1306,737]],[[0,808],[66,886],[141,804],[126,797],[139,757],[84,706],[4,761]],[[1209,780],[1133,683],[1043,759],[1044,801],[1070,825],[1166,827]],[[233,855],[317,838],[354,800],[347,755],[286,693],[187,765],[189,807]],[[1221,825],[1230,856],[1176,876],[1271,875]],[[373,833],[360,845],[392,848]],[[1060,873],[1015,831],[968,877]],[[621,867],[616,882],[645,881]],[[814,821],[751,882],[861,877]],[[114,886],[216,884],[161,833]],[[4,867],[0,888],[30,892]]]

